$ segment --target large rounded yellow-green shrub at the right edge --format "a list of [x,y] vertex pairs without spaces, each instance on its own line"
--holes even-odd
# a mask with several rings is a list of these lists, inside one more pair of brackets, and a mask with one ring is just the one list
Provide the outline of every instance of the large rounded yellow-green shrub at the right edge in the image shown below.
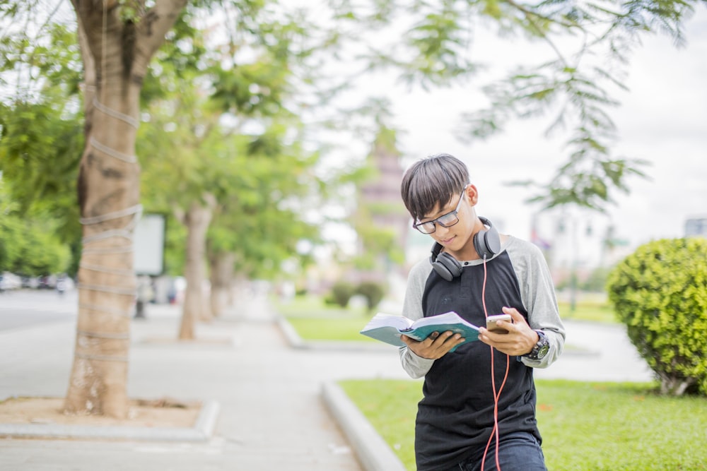
[[707,395],[707,239],[638,247],[612,270],[607,290],[662,393]]

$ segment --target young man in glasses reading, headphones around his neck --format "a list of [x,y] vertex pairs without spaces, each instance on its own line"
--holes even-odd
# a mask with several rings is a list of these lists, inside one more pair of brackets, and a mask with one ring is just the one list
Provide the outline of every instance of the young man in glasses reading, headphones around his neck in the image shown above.
[[[421,342],[402,335],[403,368],[425,377],[415,426],[417,469],[546,470],[532,371],[559,357],[565,333],[542,253],[477,216],[479,193],[467,167],[451,155],[414,163],[401,193],[414,227],[434,241],[430,259],[410,271],[404,316],[455,311],[481,326],[480,341],[463,345],[451,332]],[[495,314],[511,316],[498,323],[502,333],[483,327]]]

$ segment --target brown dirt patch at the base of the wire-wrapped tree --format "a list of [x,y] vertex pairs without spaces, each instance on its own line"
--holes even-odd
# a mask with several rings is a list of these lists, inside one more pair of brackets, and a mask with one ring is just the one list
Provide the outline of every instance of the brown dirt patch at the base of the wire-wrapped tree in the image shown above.
[[0,424],[189,428],[197,422],[201,403],[168,398],[131,399],[125,419],[69,415],[64,414],[63,408],[64,398],[8,398],[0,403]]

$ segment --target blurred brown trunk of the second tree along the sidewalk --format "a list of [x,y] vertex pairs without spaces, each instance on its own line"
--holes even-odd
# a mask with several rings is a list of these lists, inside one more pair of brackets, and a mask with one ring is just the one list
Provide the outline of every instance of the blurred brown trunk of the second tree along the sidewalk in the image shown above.
[[184,216],[184,223],[187,226],[187,256],[185,261],[187,288],[184,293],[184,306],[182,306],[180,340],[193,340],[196,321],[208,321],[211,319],[209,305],[204,298],[206,230],[209,229],[209,224],[211,223],[216,198],[212,195],[206,195],[205,200],[206,205],[194,201]]

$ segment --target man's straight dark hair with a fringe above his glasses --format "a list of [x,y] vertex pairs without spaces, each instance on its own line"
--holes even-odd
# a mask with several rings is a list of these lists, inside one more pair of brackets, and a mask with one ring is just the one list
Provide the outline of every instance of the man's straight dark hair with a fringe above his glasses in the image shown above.
[[469,183],[464,162],[449,154],[430,155],[415,162],[402,177],[400,194],[410,215],[419,221],[443,208]]

